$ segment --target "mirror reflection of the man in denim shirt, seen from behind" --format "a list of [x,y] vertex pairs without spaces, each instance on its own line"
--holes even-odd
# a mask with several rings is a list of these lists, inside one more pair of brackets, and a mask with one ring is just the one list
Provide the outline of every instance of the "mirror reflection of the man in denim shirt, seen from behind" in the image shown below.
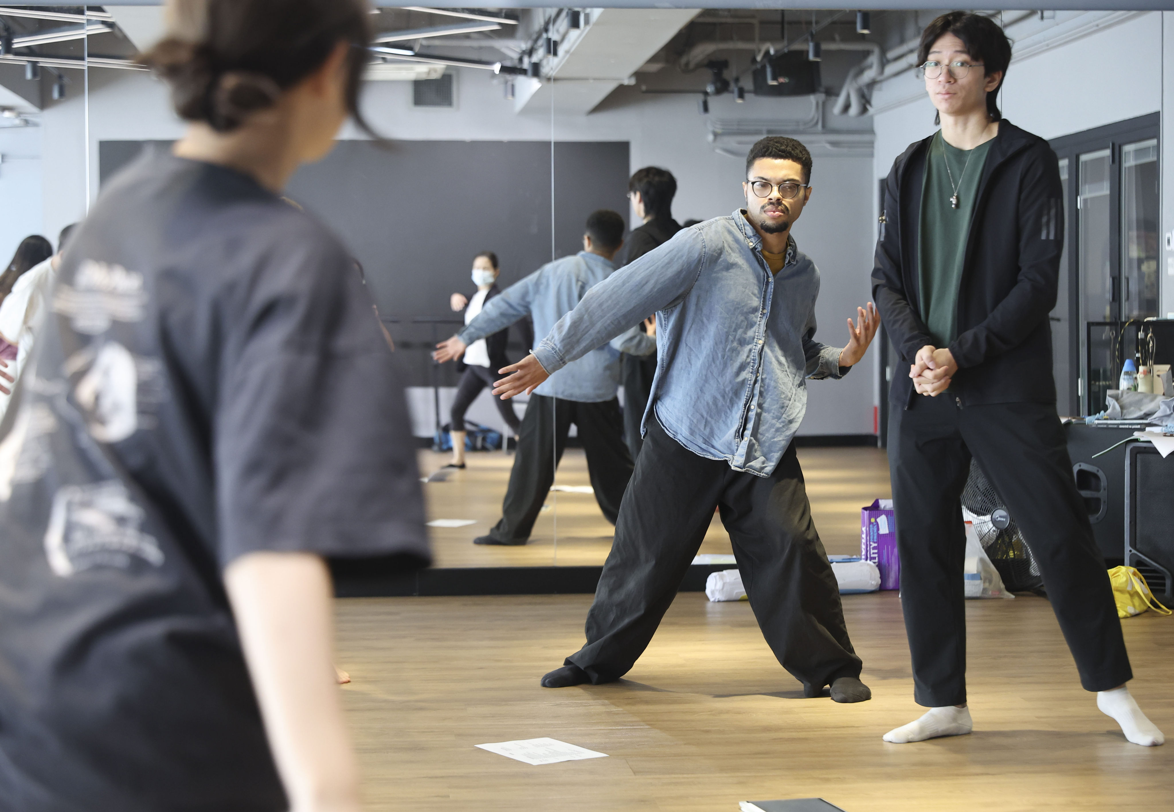
[[[436,359],[457,358],[473,341],[527,316],[534,319],[534,333],[545,336],[555,322],[574,310],[588,289],[615,271],[612,258],[622,244],[623,218],[608,209],[592,212],[587,218],[582,251],[547,263],[487,302],[464,330],[437,345]],[[588,347],[578,360],[537,387],[521,422],[501,521],[488,535],[474,539],[474,544],[526,543],[554,483],[555,459],[551,449],[554,456],[562,458],[571,424],[579,427],[595,501],[603,516],[615,523],[623,490],[632,479],[632,454],[623,442],[623,418],[615,397],[620,385],[620,353],[649,356],[655,352],[655,329],[650,330],[652,334],[645,334],[634,326],[652,312],[648,310],[634,317],[632,324],[626,325],[630,330],[618,338],[613,333]]]

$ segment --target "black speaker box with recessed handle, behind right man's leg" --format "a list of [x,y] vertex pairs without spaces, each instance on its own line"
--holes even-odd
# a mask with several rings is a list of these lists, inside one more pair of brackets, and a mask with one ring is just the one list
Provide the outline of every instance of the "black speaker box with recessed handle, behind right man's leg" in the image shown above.
[[1088,521],[1093,525],[1097,547],[1105,563],[1116,567],[1125,562],[1125,449],[1093,456],[1133,437],[1136,428],[1086,426],[1070,422],[1064,427],[1072,458],[1072,475],[1077,490],[1085,500]]

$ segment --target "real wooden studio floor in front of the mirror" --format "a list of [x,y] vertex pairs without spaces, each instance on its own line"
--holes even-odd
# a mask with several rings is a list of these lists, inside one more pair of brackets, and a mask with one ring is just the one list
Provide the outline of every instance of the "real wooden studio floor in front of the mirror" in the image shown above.
[[[1080,689],[1048,603],[971,601],[971,736],[880,735],[919,715],[895,593],[845,596],[871,702],[803,699],[747,603],[677,597],[630,678],[542,689],[589,596],[338,602],[342,688],[370,810],[736,812],[822,797],[848,812],[1174,810],[1174,743],[1122,738]],[[1134,695],[1174,733],[1174,618],[1125,621]],[[553,737],[608,758],[529,766],[473,745]]]

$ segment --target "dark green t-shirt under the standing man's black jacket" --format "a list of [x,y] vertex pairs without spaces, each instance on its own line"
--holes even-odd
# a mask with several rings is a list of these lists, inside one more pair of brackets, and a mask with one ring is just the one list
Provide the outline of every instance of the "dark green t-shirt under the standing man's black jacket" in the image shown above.
[[[983,176],[983,164],[986,163],[990,148],[991,142],[987,141],[969,151],[956,149],[945,142],[940,130],[930,142],[925,181],[922,185],[918,271],[922,319],[938,347],[949,346],[958,333],[962,265],[974,198],[978,196],[978,181]],[[957,209],[950,204],[954,184],[958,187]]]

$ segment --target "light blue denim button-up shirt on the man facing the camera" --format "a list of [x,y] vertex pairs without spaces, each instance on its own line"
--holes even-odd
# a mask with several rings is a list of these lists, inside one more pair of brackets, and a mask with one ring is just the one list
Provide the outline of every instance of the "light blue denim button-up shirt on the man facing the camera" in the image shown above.
[[645,422],[655,410],[693,453],[769,476],[803,420],[804,379],[848,370],[839,347],[814,338],[815,263],[791,241],[772,275],[761,249],[741,210],[683,229],[595,285],[534,356],[558,374],[655,311],[656,378]]

